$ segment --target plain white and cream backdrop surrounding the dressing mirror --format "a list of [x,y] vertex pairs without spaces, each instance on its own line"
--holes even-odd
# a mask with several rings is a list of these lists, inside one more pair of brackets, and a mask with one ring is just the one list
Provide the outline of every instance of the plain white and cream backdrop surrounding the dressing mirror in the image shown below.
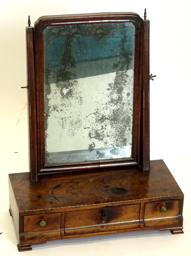
[[[151,159],[163,159],[185,194],[184,234],[158,230],[34,245],[18,252],[9,216],[8,173],[28,172],[25,27],[43,15],[137,12],[150,20]],[[0,1],[0,255],[191,255],[190,207],[190,0]],[[14,153],[18,152],[18,153]],[[20,254],[21,253],[21,254]]]

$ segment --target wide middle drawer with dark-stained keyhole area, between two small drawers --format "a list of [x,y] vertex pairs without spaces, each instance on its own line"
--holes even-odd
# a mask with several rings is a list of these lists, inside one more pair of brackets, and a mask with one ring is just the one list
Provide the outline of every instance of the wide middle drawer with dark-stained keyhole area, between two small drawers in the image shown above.
[[65,212],[65,235],[139,228],[140,204]]

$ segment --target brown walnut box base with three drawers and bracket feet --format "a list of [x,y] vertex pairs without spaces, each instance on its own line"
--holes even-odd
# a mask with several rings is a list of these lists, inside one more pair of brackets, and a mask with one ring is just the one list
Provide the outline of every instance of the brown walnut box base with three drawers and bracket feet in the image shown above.
[[[10,207],[18,212],[13,211],[13,220],[20,251],[58,239],[149,229],[183,233],[184,195],[163,160],[150,166],[150,172],[131,166],[44,175],[37,182],[30,182],[27,173],[10,174]],[[159,212],[161,205],[166,212]],[[103,216],[106,223],[100,225]],[[39,225],[41,218],[47,221],[45,229]]]

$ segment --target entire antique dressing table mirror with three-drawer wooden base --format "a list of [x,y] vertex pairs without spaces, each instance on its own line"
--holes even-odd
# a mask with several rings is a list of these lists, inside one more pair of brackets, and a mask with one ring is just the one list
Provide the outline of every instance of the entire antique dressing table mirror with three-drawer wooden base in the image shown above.
[[150,161],[149,20],[40,17],[26,28],[29,175],[9,175],[19,251],[49,240],[182,231],[184,195]]

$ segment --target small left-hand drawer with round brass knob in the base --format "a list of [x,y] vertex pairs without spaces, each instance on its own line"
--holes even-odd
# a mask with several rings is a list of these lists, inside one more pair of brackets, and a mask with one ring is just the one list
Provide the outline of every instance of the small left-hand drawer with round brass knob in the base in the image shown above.
[[60,236],[60,212],[24,216],[25,238],[49,234]]

